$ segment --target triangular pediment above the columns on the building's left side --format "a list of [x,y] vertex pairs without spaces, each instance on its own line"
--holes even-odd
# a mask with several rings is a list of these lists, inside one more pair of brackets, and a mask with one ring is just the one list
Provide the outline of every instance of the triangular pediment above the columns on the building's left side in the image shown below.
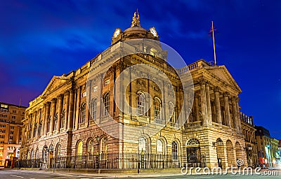
[[60,87],[65,85],[67,80],[70,80],[70,78],[67,78],[65,76],[53,76],[53,78],[48,83],[47,87],[45,88],[44,92],[41,95],[45,96],[50,94],[54,90],[58,90]]

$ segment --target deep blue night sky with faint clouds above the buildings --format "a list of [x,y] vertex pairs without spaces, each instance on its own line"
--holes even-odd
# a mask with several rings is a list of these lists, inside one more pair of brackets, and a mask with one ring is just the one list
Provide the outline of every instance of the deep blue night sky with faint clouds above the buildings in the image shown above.
[[281,1],[1,1],[0,101],[28,106],[52,76],[78,69],[105,50],[117,27],[155,27],[187,64],[214,59],[242,89],[242,112],[281,139]]

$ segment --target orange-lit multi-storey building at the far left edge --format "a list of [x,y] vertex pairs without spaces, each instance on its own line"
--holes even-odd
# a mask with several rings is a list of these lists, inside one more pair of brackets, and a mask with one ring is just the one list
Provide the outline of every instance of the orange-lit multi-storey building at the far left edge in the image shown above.
[[19,155],[26,108],[0,102],[0,166],[11,166]]

